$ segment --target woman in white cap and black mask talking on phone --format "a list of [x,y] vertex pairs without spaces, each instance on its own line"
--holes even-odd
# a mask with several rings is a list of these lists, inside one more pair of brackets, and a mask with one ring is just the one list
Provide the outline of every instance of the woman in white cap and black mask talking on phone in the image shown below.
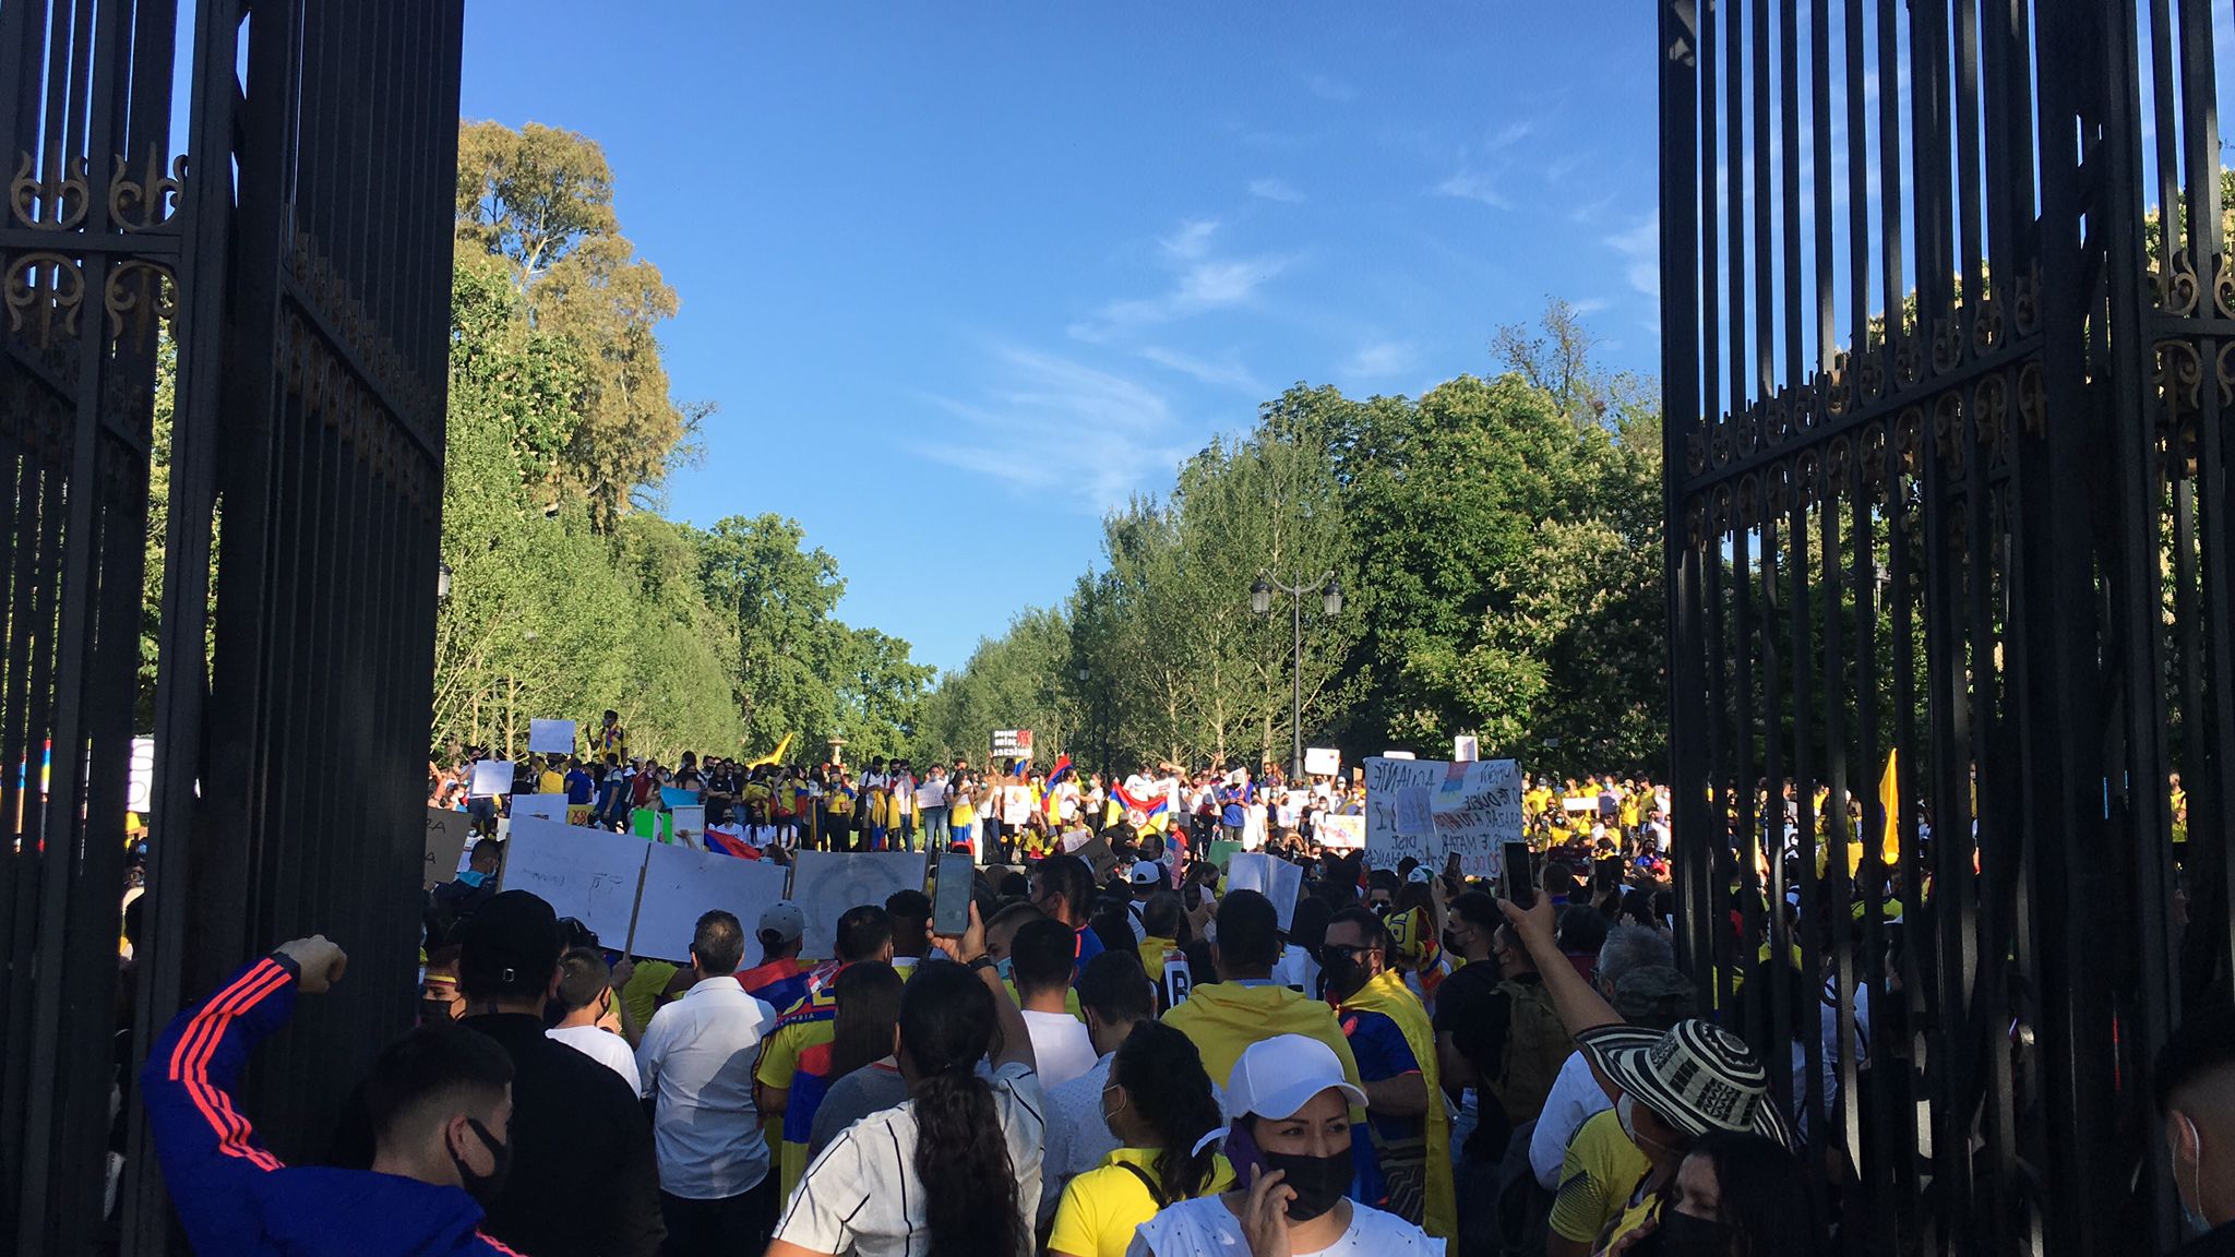
[[1140,1223],[1126,1257],[1442,1255],[1442,1239],[1343,1199],[1350,1107],[1363,1103],[1328,1045],[1294,1033],[1249,1045],[1227,1080],[1227,1159],[1240,1185]]

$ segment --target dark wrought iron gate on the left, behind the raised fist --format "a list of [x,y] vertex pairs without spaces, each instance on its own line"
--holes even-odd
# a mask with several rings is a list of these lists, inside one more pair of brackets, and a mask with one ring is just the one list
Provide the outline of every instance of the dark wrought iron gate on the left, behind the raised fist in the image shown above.
[[[324,930],[360,962],[253,1083],[282,1154],[315,1152],[340,1087],[411,1020],[460,16],[194,4],[188,157],[174,0],[0,0],[0,1235],[18,1253],[165,1246],[130,1103],[123,1199],[103,1201],[116,1062],[255,948]],[[156,705],[134,729],[163,333]],[[145,731],[154,837],[118,1018]]]

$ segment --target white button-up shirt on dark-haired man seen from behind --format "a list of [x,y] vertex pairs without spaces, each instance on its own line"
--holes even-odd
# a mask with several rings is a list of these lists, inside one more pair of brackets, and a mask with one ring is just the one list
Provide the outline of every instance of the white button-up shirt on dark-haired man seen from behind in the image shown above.
[[706,977],[653,1013],[637,1047],[644,1094],[657,1096],[659,1190],[688,1201],[744,1194],[769,1174],[753,1105],[753,1062],[776,1011],[735,977]]

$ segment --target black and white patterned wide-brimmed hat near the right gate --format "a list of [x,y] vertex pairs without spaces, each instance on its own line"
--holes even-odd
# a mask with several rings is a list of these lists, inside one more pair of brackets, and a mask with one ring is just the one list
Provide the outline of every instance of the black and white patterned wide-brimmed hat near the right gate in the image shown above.
[[1607,1024],[1576,1036],[1607,1078],[1676,1130],[1752,1132],[1792,1147],[1792,1130],[1770,1096],[1770,1076],[1739,1036],[1701,1020],[1667,1033]]

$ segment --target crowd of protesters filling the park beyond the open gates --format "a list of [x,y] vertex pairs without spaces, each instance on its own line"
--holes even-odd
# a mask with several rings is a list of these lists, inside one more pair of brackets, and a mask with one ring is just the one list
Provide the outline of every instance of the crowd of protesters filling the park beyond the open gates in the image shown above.
[[[1810,1212],[1801,1159],[1844,1150],[1801,1098],[1853,1103],[1866,1000],[1844,1029],[1795,1020],[1786,1078],[1734,1033],[1779,984],[1828,1002],[1759,930],[1759,964],[1676,966],[1665,787],[1529,783],[1515,901],[1457,859],[1330,845],[1323,819],[1363,803],[1339,778],[668,772],[603,738],[603,765],[552,767],[599,816],[693,790],[708,850],[742,854],[729,825],[753,857],[974,850],[970,926],[934,937],[903,890],[849,908],[825,957],[789,901],[751,928],[706,913],[679,962],[628,957],[498,890],[481,839],[429,895],[422,1024],[362,1080],[355,1156],[286,1168],[232,1098],[295,995],[342,977],[333,942],[250,962],[156,1047],[143,1098],[201,1250],[1759,1257],[1846,1221]],[[1231,850],[1299,861],[1296,901],[1229,890]]]

